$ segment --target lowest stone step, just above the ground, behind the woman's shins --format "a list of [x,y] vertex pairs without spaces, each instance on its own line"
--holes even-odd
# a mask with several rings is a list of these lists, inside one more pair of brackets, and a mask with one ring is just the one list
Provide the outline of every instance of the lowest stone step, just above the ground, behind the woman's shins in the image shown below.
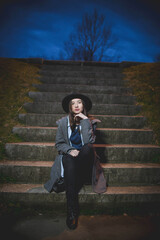
[[[65,192],[48,193],[42,184],[0,185],[3,204],[33,209],[66,211]],[[157,214],[160,212],[160,186],[108,187],[103,194],[83,188],[79,193],[80,210],[97,214]]]

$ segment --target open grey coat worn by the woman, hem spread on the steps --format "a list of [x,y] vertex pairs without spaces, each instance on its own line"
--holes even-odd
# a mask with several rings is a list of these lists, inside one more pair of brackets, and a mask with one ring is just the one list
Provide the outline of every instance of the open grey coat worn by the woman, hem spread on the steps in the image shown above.
[[[58,150],[58,155],[54,161],[54,164],[51,168],[50,179],[44,184],[44,187],[48,192],[53,191],[54,183],[60,179],[62,173],[62,157],[64,154],[69,153],[72,149],[75,149],[71,146],[68,137],[68,128],[69,125],[69,117],[63,117],[58,122],[58,129],[56,134],[56,144],[55,147]],[[90,119],[82,119],[80,121],[80,132],[82,138],[82,144],[93,144],[95,142],[95,129],[96,129],[96,120]],[[93,191],[96,193],[103,193],[106,191],[106,180],[104,178],[103,170],[99,162],[99,158],[95,152],[94,154],[94,164],[92,171],[92,187]]]

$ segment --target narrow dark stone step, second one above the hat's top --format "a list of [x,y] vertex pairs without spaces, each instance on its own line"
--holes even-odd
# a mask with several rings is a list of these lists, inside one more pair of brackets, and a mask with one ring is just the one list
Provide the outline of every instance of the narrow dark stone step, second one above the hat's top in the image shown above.
[[55,77],[41,75],[38,79],[46,84],[76,84],[76,85],[94,85],[94,86],[124,86],[121,78],[100,78],[100,77]]

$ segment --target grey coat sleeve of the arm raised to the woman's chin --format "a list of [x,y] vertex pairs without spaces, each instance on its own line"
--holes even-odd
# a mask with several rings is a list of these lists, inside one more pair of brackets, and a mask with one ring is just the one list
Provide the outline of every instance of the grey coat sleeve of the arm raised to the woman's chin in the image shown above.
[[80,121],[80,125],[84,144],[94,143],[96,140],[95,136],[96,124],[95,123],[92,124],[90,119],[83,119]]

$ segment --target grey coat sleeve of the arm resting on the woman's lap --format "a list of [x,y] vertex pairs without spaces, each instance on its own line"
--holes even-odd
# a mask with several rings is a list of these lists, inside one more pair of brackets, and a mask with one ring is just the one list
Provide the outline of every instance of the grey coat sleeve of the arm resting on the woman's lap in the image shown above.
[[58,129],[57,129],[56,144],[55,144],[55,147],[57,148],[57,150],[60,154],[66,154],[70,150],[75,149],[74,147],[67,144],[67,141],[65,138],[66,138],[66,136],[62,130],[62,124],[60,122],[58,125]]

